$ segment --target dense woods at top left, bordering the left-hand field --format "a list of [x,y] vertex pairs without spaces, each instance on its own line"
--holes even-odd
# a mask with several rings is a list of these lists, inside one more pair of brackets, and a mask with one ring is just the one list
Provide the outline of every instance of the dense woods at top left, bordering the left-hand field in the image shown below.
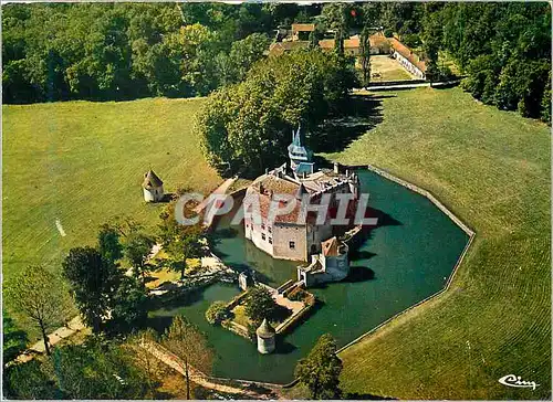
[[279,19],[298,13],[249,3],[9,4],[2,11],[4,103],[206,95],[240,81]]

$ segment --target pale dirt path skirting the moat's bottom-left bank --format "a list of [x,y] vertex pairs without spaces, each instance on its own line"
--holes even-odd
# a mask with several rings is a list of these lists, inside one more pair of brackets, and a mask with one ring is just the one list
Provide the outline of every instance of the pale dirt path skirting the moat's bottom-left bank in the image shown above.
[[[167,364],[171,369],[176,370],[180,374],[185,375],[185,370],[182,368],[182,363],[180,362],[180,359],[171,353],[169,350],[165,349],[160,345],[157,343],[145,343],[142,346],[144,349],[146,349],[148,352],[150,352],[155,358],[157,358],[159,361],[163,363]],[[215,382],[213,379],[209,378],[208,375],[195,370],[190,369],[190,379],[197,383],[198,385],[201,385],[204,388],[213,390],[213,391],[219,391],[219,392],[225,392],[225,393],[230,393],[230,394],[236,394],[236,395],[242,395],[242,396],[249,396],[258,400],[275,400],[275,399],[282,399],[282,395],[280,394],[278,388],[275,385],[271,384],[265,384],[265,383],[258,383],[258,382],[250,382],[250,381],[240,381],[244,385],[244,388],[238,388],[238,387],[232,387],[232,385],[226,385],[221,384],[218,382]],[[258,391],[259,389],[264,390]]]

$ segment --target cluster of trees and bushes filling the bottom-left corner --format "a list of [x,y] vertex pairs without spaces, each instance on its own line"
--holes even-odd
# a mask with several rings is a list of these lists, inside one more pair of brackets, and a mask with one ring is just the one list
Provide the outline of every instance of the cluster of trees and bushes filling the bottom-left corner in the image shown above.
[[[175,228],[175,220],[169,218],[173,211],[174,203],[161,213],[159,237],[167,246],[169,267],[181,272],[187,255],[180,248],[184,243],[194,248],[190,237],[197,240],[199,233]],[[10,283],[8,297],[19,313],[39,327],[46,358],[9,366],[3,378],[7,395],[14,399],[156,398],[160,378],[153,367],[154,357],[144,346],[160,341],[181,358],[190,398],[189,367],[194,364],[209,372],[211,361],[211,350],[198,328],[176,317],[160,339],[152,329],[136,334],[146,324],[145,282],[148,272],[155,269],[148,256],[156,242],[132,219],[116,218],[100,228],[95,246],[70,250],[61,275],[42,266],[30,266]],[[121,266],[124,261],[132,265],[133,275],[127,275]],[[83,345],[59,346],[52,350],[48,332],[74,314],[72,300],[93,335]],[[7,325],[6,363],[25,348],[28,339],[9,315],[3,322]]]

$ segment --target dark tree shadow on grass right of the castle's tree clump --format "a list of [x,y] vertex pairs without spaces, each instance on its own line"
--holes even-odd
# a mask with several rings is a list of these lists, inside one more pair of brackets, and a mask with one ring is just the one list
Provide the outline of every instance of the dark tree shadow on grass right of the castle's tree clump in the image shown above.
[[[389,95],[388,95],[389,97]],[[383,121],[383,96],[353,95],[344,113],[315,128],[309,145],[314,152],[337,152]]]

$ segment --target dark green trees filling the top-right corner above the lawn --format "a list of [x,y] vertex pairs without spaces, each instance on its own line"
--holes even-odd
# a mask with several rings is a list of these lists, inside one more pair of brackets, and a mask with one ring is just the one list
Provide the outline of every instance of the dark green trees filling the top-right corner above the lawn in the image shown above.
[[551,121],[550,4],[468,6],[445,4],[431,22],[469,75],[463,87],[487,104]]

